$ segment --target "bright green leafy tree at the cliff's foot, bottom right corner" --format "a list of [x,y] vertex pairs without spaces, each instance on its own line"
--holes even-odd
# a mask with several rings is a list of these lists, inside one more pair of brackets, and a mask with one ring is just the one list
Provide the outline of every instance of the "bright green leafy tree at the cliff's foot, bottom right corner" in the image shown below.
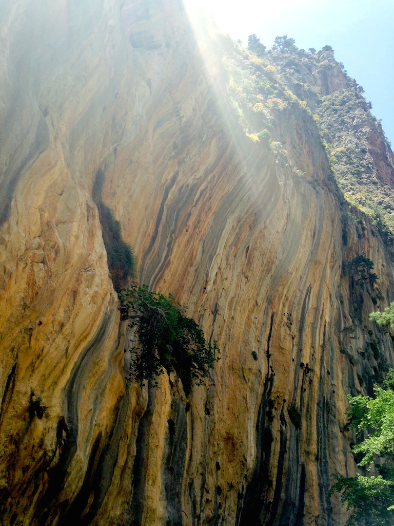
[[348,526],[391,526],[394,524],[394,370],[390,369],[383,382],[385,389],[374,387],[374,397],[348,396],[349,425],[361,436],[368,436],[352,451],[361,454],[358,466],[368,470],[377,458],[379,475],[366,477],[337,477],[330,492],[341,492],[341,501],[351,510]]

